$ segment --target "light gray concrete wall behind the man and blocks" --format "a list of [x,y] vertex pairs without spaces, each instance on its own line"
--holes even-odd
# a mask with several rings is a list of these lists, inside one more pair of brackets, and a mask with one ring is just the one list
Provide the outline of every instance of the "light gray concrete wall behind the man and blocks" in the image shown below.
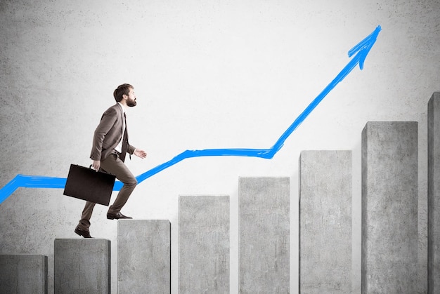
[[[148,152],[135,175],[185,149],[268,148],[347,65],[347,51],[382,32],[272,160],[182,161],[136,188],[123,213],[172,222],[176,293],[179,194],[231,196],[231,293],[238,291],[238,177],[291,178],[291,292],[298,283],[298,158],[353,150],[353,288],[361,285],[361,131],[367,121],[419,122],[420,293],[427,289],[427,101],[440,91],[439,1],[0,0],[0,187],[18,173],[65,177],[89,165],[93,131],[120,83],[135,86],[131,144]],[[18,189],[0,204],[0,253],[48,255],[84,202],[61,189]],[[91,234],[117,222],[96,206]],[[49,267],[49,289],[53,269]],[[115,291],[116,279],[112,281]]]

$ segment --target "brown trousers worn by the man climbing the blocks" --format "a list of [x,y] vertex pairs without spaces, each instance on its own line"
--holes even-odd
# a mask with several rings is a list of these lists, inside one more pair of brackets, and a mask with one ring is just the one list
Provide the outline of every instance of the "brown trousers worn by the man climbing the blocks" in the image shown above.
[[[117,194],[115,202],[108,208],[108,213],[118,213],[129,199],[129,196],[138,184],[138,181],[131,173],[129,168],[127,168],[125,163],[119,159],[119,156],[116,154],[110,154],[106,159],[101,161],[100,171],[105,171],[106,173],[115,175],[116,178],[124,184],[122,189]],[[84,207],[84,211],[82,211],[81,220],[78,224],[80,229],[89,230],[90,218],[95,204],[96,203],[86,201],[86,206]]]

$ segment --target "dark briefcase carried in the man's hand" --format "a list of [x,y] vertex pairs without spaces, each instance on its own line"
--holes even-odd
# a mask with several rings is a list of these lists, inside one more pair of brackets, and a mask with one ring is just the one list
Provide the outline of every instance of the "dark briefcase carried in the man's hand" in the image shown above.
[[108,206],[114,185],[115,175],[71,164],[63,194]]

